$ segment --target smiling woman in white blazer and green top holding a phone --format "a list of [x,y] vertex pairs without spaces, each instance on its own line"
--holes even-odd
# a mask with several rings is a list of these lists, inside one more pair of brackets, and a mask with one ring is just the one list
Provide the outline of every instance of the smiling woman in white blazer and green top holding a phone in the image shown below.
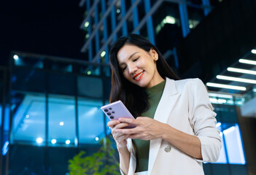
[[[203,174],[221,148],[216,114],[200,79],[179,78],[144,37],[123,36],[109,52],[110,102],[123,101],[135,120],[107,125],[120,155],[122,174]],[[135,128],[124,128],[128,125]]]

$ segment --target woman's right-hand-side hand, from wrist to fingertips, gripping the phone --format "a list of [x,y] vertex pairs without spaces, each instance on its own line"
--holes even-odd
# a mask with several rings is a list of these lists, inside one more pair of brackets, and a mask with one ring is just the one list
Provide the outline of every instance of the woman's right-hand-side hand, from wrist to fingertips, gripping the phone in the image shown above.
[[127,125],[136,125],[135,128],[116,128],[115,133],[125,134],[130,139],[152,140],[163,136],[164,123],[160,123],[150,117],[119,118],[118,121]]

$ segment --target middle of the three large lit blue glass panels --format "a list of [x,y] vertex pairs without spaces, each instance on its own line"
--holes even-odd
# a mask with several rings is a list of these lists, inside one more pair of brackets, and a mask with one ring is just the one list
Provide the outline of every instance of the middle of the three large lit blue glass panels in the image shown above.
[[72,145],[75,138],[75,101],[69,96],[49,96],[49,145]]

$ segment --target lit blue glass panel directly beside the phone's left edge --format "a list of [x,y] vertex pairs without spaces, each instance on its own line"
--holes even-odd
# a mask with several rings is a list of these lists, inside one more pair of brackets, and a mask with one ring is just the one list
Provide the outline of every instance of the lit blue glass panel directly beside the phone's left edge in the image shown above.
[[100,107],[102,100],[79,98],[79,142],[97,144],[104,137],[104,113]]

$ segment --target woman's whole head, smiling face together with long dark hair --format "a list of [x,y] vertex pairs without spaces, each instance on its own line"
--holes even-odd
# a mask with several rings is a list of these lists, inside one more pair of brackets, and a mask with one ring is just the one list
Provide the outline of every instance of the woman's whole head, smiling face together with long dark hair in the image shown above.
[[[110,101],[123,101],[133,116],[139,116],[141,112],[148,109],[147,94],[144,88],[149,85],[147,83],[151,82],[149,77],[144,76],[144,73],[150,74],[151,77],[154,75],[158,83],[161,82],[161,78],[163,80],[166,77],[179,79],[168,66],[158,48],[143,36],[136,34],[123,36],[113,44],[109,52],[109,62],[112,69]],[[136,62],[139,62],[140,67],[136,66]],[[140,72],[134,69],[139,69]],[[138,77],[139,74],[142,76]],[[142,77],[145,77],[147,81],[141,79]],[[158,83],[155,82],[155,84]]]

